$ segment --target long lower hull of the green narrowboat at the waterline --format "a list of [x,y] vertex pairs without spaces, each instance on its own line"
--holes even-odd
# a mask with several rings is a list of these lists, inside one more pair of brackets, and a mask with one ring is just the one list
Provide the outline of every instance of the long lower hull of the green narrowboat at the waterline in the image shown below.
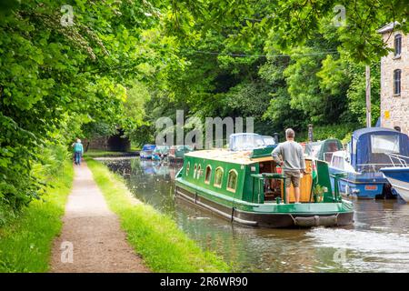
[[176,178],[175,196],[231,222],[254,227],[348,226],[354,223],[352,203],[254,204],[218,194]]

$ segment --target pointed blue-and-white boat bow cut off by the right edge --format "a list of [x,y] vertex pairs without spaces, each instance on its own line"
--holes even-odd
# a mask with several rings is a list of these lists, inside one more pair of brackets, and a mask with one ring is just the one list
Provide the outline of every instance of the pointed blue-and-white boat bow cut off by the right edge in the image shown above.
[[393,166],[380,169],[394,190],[404,201],[409,202],[409,156],[388,154]]

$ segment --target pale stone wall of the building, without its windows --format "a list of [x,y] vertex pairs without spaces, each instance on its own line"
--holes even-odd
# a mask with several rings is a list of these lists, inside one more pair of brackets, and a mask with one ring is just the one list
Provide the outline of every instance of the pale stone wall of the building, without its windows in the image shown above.
[[[394,128],[400,126],[409,134],[409,35],[399,31],[384,33],[384,42],[394,47],[394,35],[402,35],[402,53],[394,58],[394,52],[381,60],[381,125]],[[401,95],[394,95],[394,70],[401,69]]]

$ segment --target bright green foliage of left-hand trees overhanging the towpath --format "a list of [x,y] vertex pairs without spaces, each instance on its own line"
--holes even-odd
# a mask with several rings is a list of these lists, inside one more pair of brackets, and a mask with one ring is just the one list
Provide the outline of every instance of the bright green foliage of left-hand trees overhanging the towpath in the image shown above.
[[41,194],[46,181],[33,166],[53,164],[46,146],[141,125],[142,107],[134,106],[143,92],[135,80],[153,82],[175,65],[173,37],[157,29],[159,2],[69,1],[68,26],[60,21],[65,4],[1,6],[1,208],[17,211]]

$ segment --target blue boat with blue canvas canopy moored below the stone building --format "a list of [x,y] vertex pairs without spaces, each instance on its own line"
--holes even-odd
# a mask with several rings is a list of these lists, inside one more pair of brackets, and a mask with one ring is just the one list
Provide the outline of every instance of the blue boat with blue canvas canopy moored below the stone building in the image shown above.
[[[388,154],[409,156],[409,137],[394,129],[368,127],[354,131],[347,149],[334,152],[330,173],[345,173],[340,192],[358,198],[393,198],[396,192],[380,171],[393,166]],[[332,180],[334,186],[334,179]]]

